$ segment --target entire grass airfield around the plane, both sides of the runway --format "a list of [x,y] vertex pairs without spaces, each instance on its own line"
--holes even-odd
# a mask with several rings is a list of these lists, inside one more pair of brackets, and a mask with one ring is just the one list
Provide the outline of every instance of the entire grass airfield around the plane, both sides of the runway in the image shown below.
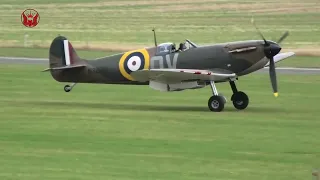
[[[88,42],[97,50],[77,50],[86,58],[152,45],[155,25],[158,42],[259,39],[249,22],[254,14],[266,38],[289,29],[283,46],[302,52],[277,66],[320,66],[317,54],[306,53],[320,42],[316,0],[28,2],[0,5],[1,56],[47,57],[47,50],[21,48],[25,33],[35,47],[47,48],[57,33],[76,49]],[[37,28],[17,20],[29,7],[41,15]],[[218,84],[229,101],[212,113],[209,87],[162,93],[78,84],[65,93],[44,68],[0,64],[0,179],[293,180],[311,179],[320,168],[319,75],[278,73],[278,98],[268,74],[242,77],[245,111],[232,106],[229,85]]]

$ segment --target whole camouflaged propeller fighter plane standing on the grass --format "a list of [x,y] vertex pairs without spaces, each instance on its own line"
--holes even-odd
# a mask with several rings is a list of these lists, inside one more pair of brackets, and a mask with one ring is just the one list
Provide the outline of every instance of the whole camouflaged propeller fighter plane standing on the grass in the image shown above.
[[[154,30],[153,30],[154,31]],[[258,31],[259,32],[259,31]],[[260,32],[259,32],[260,33]],[[69,92],[76,83],[149,85],[160,91],[181,91],[211,86],[213,96],[208,101],[211,111],[224,109],[226,98],[219,95],[216,83],[229,82],[231,101],[237,109],[245,109],[248,96],[238,91],[235,81],[261,68],[269,66],[273,92],[278,96],[275,63],[293,56],[293,52],[280,53],[278,41],[248,40],[199,46],[190,40],[176,49],[174,43],[143,48],[95,60],[80,58],[71,43],[63,36],[56,37],[49,54],[50,71],[58,82],[70,82],[64,87]]]

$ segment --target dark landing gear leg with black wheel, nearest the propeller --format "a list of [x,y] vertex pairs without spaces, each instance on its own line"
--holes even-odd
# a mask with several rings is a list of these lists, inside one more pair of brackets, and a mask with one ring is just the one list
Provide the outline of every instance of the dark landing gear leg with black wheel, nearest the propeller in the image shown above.
[[246,95],[246,93],[238,91],[234,81],[229,81],[229,83],[233,92],[233,95],[231,96],[233,106],[239,110],[247,108],[249,104],[249,97]]

